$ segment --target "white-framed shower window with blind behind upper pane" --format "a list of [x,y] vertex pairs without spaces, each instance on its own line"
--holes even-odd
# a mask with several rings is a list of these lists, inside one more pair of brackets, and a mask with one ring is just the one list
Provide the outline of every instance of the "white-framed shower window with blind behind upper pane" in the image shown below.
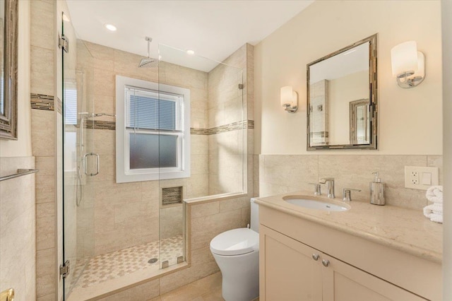
[[117,76],[117,182],[190,176],[190,91]]

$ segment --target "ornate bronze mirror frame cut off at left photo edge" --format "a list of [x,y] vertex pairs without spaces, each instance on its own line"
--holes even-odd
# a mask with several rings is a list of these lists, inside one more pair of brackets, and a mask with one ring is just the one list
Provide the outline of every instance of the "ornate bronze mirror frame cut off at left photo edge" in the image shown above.
[[18,0],[5,0],[4,114],[0,138],[17,140]]

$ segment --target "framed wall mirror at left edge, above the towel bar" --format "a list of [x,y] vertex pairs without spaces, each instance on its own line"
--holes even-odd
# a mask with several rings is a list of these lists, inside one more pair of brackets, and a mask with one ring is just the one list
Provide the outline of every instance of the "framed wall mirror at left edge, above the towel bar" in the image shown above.
[[0,138],[17,139],[18,0],[0,0]]

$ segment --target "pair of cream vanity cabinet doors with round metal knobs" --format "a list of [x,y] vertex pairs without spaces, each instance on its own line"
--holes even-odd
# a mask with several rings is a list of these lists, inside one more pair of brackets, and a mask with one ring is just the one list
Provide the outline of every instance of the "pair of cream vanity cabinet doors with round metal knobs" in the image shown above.
[[260,300],[425,300],[265,226],[260,235]]

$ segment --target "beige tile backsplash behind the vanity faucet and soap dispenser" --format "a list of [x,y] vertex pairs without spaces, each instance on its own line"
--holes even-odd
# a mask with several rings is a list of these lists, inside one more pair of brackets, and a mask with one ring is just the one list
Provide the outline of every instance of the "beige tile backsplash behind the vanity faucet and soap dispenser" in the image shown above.
[[374,179],[371,172],[379,172],[386,185],[387,204],[418,209],[427,206],[424,190],[405,188],[405,166],[439,167],[442,184],[441,155],[259,155],[259,195],[314,191],[309,182],[334,177],[337,198],[347,187],[361,189],[352,192],[352,199],[369,201],[369,182]]

